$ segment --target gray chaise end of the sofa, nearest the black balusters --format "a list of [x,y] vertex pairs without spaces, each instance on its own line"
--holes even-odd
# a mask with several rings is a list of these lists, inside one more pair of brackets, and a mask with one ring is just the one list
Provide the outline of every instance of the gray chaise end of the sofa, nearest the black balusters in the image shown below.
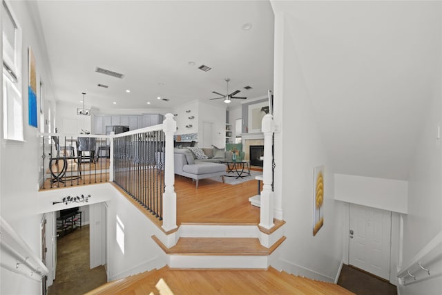
[[226,173],[226,166],[224,164],[196,162],[193,154],[188,149],[175,149],[173,157],[175,174],[195,180],[197,189],[198,180],[200,179],[221,176],[222,182],[224,182],[224,174]]

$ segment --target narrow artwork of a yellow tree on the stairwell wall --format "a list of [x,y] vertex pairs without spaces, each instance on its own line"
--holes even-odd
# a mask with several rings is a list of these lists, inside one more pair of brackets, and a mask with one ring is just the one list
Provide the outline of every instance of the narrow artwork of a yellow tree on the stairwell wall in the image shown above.
[[313,236],[316,236],[324,225],[324,165],[314,167],[313,171]]

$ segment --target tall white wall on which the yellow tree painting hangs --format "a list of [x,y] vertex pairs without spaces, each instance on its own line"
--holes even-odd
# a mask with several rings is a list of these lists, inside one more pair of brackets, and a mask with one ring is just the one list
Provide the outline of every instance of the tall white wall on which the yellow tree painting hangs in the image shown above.
[[[276,194],[282,196],[287,240],[273,266],[302,276],[334,281],[343,259],[343,204],[334,200],[334,170],[320,138],[307,84],[291,36],[289,19],[275,10]],[[281,34],[282,32],[282,34]],[[282,108],[283,106],[283,108]],[[314,166],[325,165],[324,225],[313,236]],[[278,196],[276,197],[278,198]]]

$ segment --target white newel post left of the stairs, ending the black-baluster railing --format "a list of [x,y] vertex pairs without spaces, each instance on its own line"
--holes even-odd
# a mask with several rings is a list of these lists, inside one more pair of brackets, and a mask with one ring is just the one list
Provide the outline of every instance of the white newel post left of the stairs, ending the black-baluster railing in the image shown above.
[[173,133],[177,130],[177,122],[173,114],[166,114],[163,122],[166,144],[164,147],[164,184],[163,193],[163,225],[164,231],[177,228],[177,194],[175,193],[175,168],[173,160]]

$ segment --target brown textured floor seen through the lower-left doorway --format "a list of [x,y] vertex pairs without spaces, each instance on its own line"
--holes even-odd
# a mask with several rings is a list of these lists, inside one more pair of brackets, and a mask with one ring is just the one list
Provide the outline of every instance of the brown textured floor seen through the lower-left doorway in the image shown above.
[[88,225],[57,239],[57,273],[48,295],[84,294],[104,283],[104,266],[89,269]]

